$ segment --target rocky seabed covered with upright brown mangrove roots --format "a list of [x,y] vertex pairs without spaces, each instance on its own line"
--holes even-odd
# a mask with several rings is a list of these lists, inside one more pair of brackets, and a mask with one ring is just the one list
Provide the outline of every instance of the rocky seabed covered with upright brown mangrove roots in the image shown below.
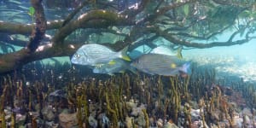
[[0,77],[0,127],[256,127],[254,84],[215,79],[93,74],[69,64],[32,63]]

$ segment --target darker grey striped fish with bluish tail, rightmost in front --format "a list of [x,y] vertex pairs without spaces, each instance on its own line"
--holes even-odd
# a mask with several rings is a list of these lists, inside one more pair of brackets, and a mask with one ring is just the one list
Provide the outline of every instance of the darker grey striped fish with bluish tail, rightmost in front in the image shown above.
[[191,72],[189,66],[190,62],[183,61],[177,58],[177,56],[160,54],[142,55],[131,63],[131,67],[136,67],[144,73],[164,76],[180,74],[182,77],[187,76]]

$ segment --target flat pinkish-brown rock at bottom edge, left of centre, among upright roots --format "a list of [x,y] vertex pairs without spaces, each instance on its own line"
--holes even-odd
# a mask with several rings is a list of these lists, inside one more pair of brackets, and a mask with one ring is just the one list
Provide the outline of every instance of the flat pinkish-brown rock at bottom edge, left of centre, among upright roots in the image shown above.
[[70,128],[78,125],[77,113],[60,113],[59,120],[59,123],[63,128]]

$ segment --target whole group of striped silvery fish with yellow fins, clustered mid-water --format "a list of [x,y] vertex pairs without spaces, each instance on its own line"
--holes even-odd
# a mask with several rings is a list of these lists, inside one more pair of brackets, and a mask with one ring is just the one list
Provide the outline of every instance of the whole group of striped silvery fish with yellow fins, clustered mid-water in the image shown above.
[[181,49],[177,49],[177,54],[173,54],[172,49],[159,46],[133,60],[126,55],[127,49],[115,52],[101,44],[84,44],[72,56],[71,62],[92,67],[93,73],[109,75],[123,73],[125,70],[136,73],[135,69],[143,73],[163,76],[186,77],[191,73],[190,61],[183,61]]

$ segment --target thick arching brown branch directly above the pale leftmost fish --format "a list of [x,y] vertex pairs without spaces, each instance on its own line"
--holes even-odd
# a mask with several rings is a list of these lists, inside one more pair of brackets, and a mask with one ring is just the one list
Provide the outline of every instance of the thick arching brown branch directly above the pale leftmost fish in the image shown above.
[[53,42],[62,44],[69,34],[79,28],[107,28],[108,26],[129,26],[132,24],[132,21],[126,19],[124,15],[102,9],[91,10],[84,15],[80,15],[78,20],[61,27],[59,32],[55,34]]

